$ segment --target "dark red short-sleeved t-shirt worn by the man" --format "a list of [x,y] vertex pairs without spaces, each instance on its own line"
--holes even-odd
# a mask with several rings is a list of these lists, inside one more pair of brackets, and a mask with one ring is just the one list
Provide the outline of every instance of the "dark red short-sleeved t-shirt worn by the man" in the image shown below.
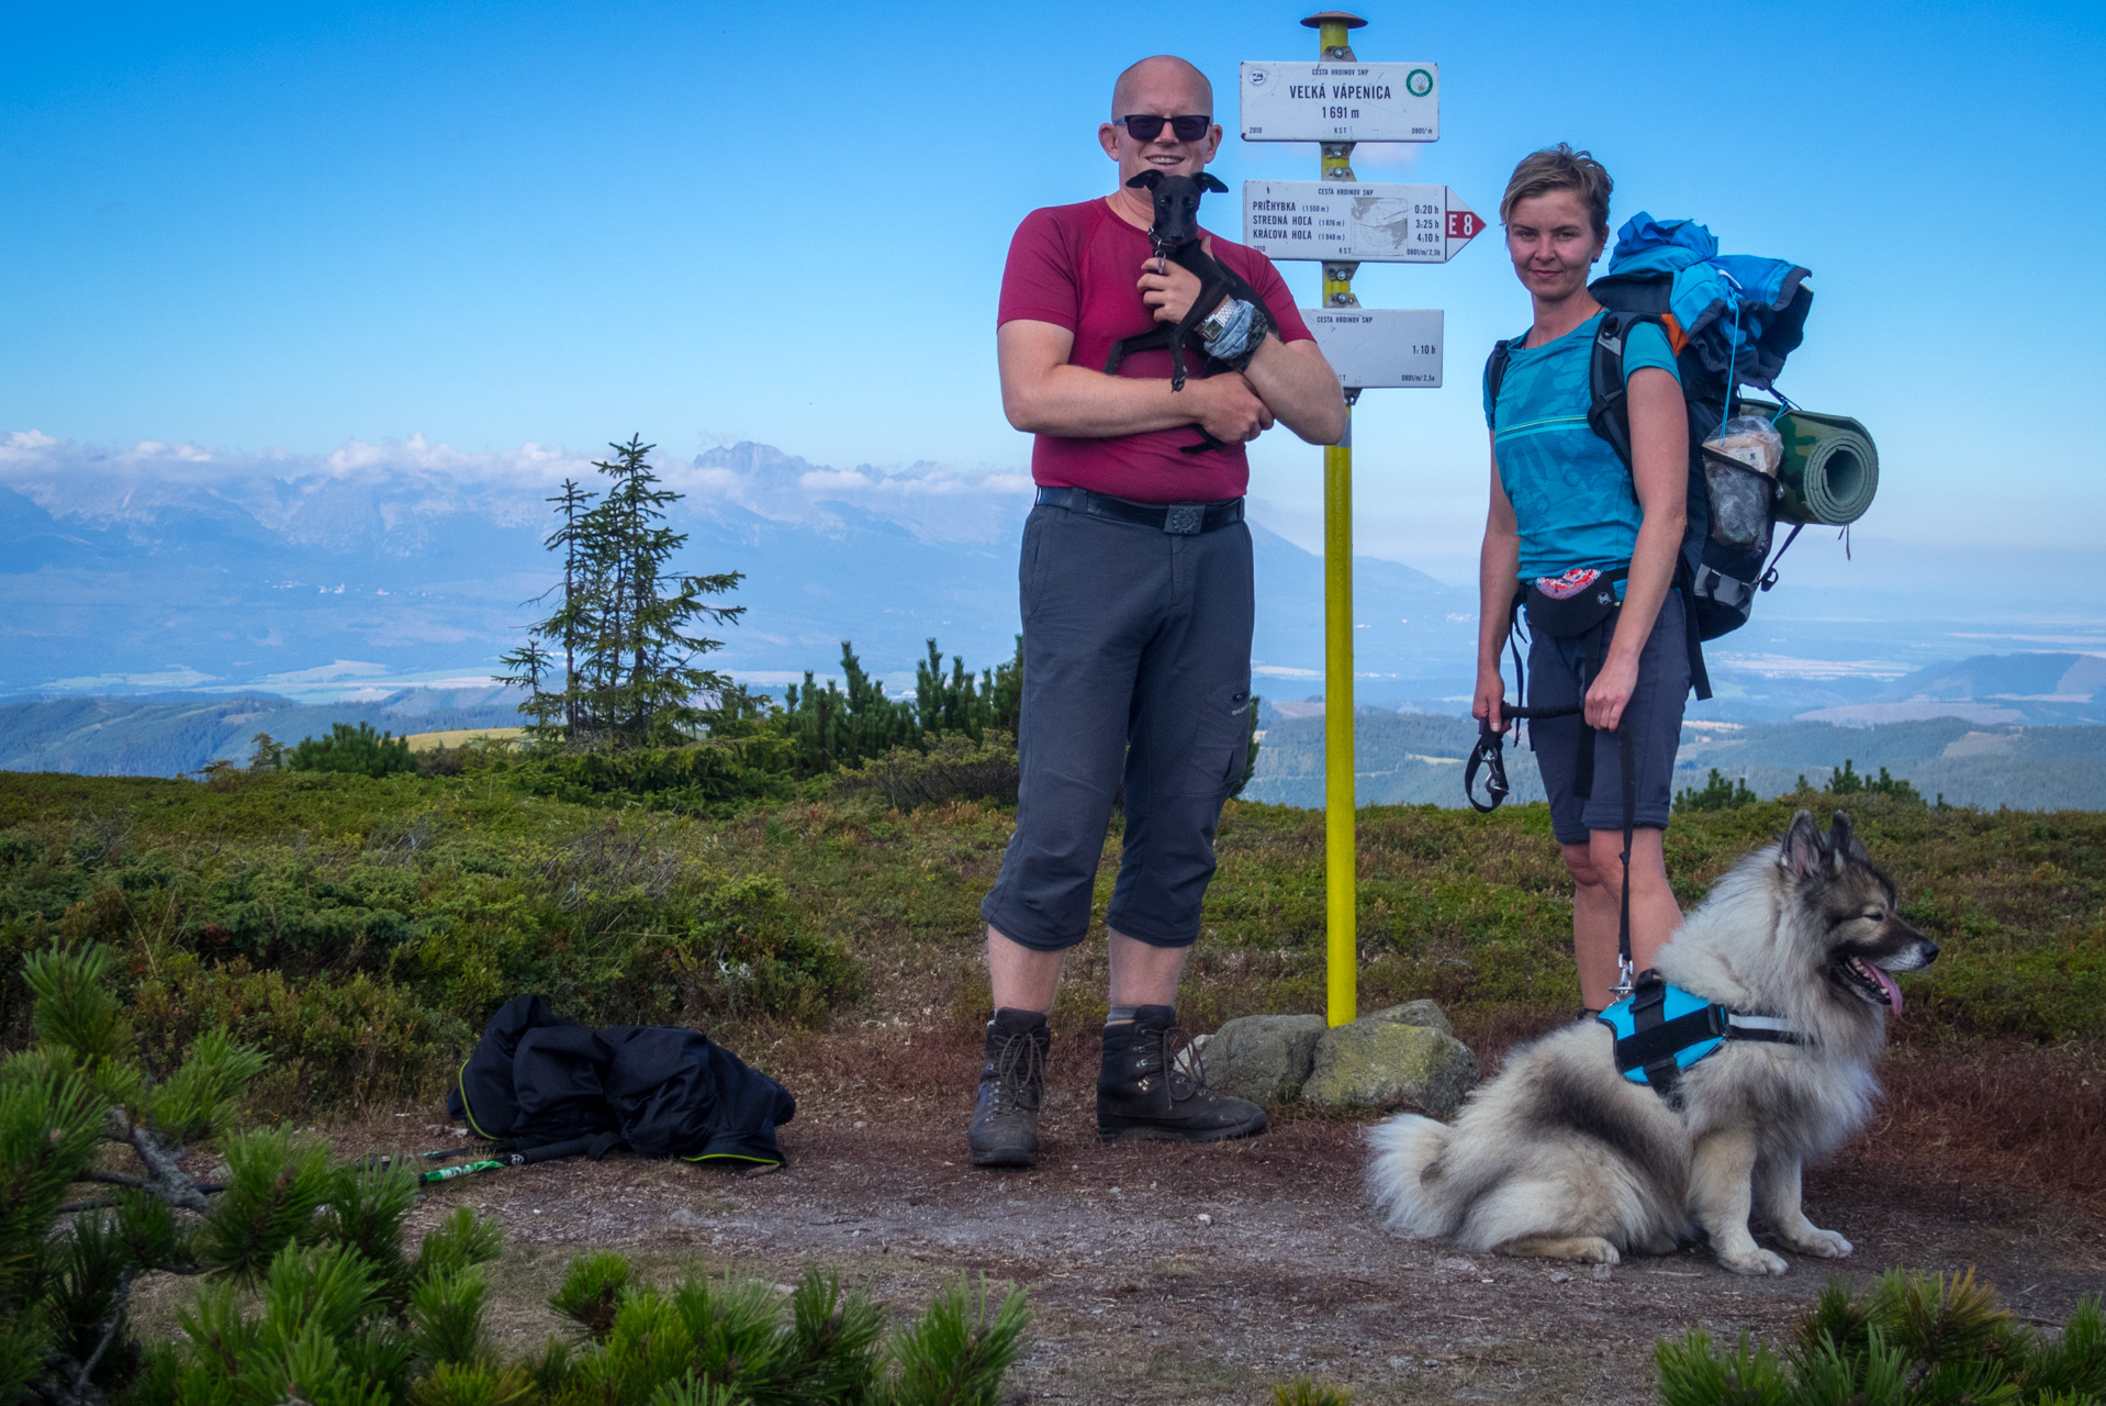
[[[1280,341],[1310,341],[1310,329],[1272,259],[1219,234],[1209,232],[1209,238],[1213,257],[1266,299],[1280,325]],[[1074,333],[1068,365],[1101,371],[1114,341],[1156,325],[1135,287],[1148,255],[1148,232],[1114,215],[1104,198],[1032,211],[1009,240],[996,327],[1015,318],[1066,327]],[[1196,352],[1186,352],[1186,369],[1198,371]],[[1139,352],[1120,363],[1118,375],[1167,382],[1171,354]],[[1243,445],[1184,453],[1184,445],[1196,441],[1196,426],[1118,438],[1040,434],[1032,445],[1032,479],[1045,487],[1091,489],[1146,504],[1243,497],[1251,481]]]

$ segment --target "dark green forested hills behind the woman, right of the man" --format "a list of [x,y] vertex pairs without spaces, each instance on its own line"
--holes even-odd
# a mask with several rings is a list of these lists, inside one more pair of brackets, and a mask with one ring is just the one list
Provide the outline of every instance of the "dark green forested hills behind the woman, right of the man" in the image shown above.
[[[1316,807],[1325,801],[1323,717],[1264,729],[1253,801]],[[1445,715],[1363,712],[1354,719],[1354,799],[1360,805],[1462,805],[1464,759],[1476,723]],[[2106,727],[1975,725],[1963,719],[1841,727],[1834,723],[1697,723],[1683,731],[1674,788],[1704,786],[1712,769],[1761,797],[1805,776],[1824,786],[1845,761],[1860,774],[1887,767],[1927,801],[2013,809],[2106,809]],[[1527,744],[1508,742],[1514,801],[1539,801]]]

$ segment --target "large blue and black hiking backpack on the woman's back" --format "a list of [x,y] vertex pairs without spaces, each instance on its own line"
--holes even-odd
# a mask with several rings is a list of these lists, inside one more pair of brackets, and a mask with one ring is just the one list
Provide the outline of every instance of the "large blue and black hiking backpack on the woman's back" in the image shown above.
[[[1704,266],[1697,270],[1704,276],[1689,278],[1693,266]],[[1689,516],[1674,586],[1687,605],[1689,681],[1697,698],[1712,696],[1704,641],[1748,624],[1756,592],[1775,586],[1775,561],[1799,538],[1794,525],[1784,548],[1769,554],[1782,495],[1777,481],[1706,449],[1704,441],[1742,413],[1740,386],[1771,390],[1784,358],[1799,348],[1813,306],[1807,276],[1805,268],[1777,259],[1716,259],[1716,242],[1704,226],[1655,221],[1641,211],[1617,230],[1609,272],[1588,285],[1603,306],[1588,360],[1588,428],[1609,441],[1626,468],[1624,339],[1638,323],[1653,323],[1674,350],[1689,409]],[[1508,352],[1518,344],[1521,337],[1497,341],[1485,360],[1493,411]]]

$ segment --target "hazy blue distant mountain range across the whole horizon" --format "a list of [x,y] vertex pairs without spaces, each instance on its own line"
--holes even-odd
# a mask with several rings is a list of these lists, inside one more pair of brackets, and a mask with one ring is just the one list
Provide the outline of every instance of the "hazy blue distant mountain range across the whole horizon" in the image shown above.
[[[897,685],[931,637],[973,668],[1009,656],[1026,476],[842,470],[750,443],[655,462],[687,495],[676,565],[746,573],[735,599],[748,613],[722,630],[716,666],[779,687],[834,672],[853,639]],[[486,689],[556,582],[543,500],[564,476],[598,479],[535,445],[230,455],[0,436],[0,698],[392,706],[406,687]],[[1259,689],[1320,694],[1323,563],[1264,521],[1253,540]],[[2026,632],[2013,620],[1881,616],[1868,597],[1786,575],[1754,624],[1708,647],[1718,698],[1691,717],[2106,721],[2106,628],[2093,618]],[[1464,706],[1474,588],[1363,556],[1354,611],[1360,702]],[[2062,651],[1982,653],[1988,641]]]

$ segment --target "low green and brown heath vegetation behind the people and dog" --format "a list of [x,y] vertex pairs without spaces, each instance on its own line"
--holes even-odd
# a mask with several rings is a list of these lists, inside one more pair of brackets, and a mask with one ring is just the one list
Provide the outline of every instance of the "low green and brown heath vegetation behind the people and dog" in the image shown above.
[[[927,755],[971,769],[990,734]],[[249,1105],[358,1111],[430,1096],[505,997],[545,993],[590,1022],[817,1027],[874,972],[939,955],[939,1005],[969,1005],[977,904],[1011,812],[939,803],[933,774],[882,759],[729,814],[537,795],[491,748],[457,776],[236,772],[208,782],[13,774],[0,780],[0,1031],[27,1039],[21,959],[105,942],[110,984],[150,1060],[225,1024],[270,1058]],[[1805,790],[1668,831],[1685,902]],[[2106,1037],[2106,816],[1935,809],[1849,797],[1860,833],[1944,942],[1910,978],[1912,1041]],[[1116,820],[1104,887],[1116,860]],[[1230,803],[1209,940],[1188,993],[1200,1027],[1323,1005],[1323,816]],[[1529,1022],[1577,1001],[1569,883],[1539,805],[1497,816],[1371,807],[1360,818],[1363,1001],[1432,995],[1459,1018]],[[1104,898],[1106,894],[1099,894]],[[1076,993],[1072,999],[1087,999]]]

